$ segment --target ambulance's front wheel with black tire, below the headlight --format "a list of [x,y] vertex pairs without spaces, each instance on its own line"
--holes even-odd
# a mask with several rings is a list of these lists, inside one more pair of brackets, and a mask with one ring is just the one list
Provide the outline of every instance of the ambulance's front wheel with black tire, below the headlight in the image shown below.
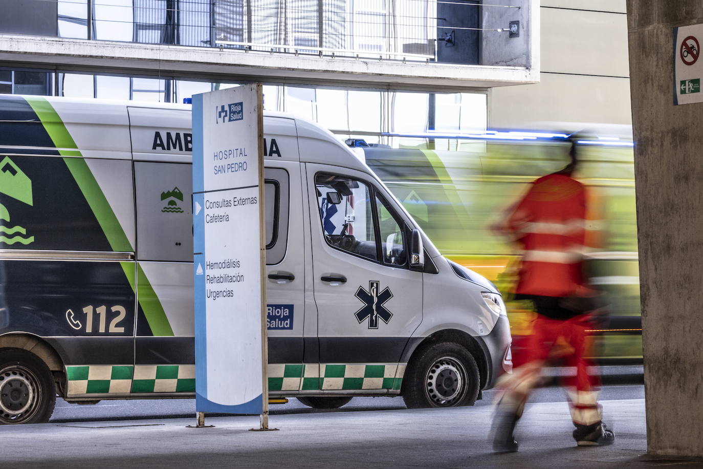
[[479,367],[453,342],[427,345],[408,364],[401,394],[408,409],[472,406],[479,394]]

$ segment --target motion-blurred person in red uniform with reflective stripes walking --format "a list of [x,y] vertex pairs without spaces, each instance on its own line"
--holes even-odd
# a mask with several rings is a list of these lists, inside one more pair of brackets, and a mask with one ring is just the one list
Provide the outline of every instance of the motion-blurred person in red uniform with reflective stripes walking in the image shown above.
[[531,390],[541,380],[541,368],[562,359],[576,368],[565,380],[569,407],[579,446],[612,444],[614,434],[602,423],[597,375],[589,375],[591,356],[586,330],[598,315],[595,292],[586,286],[586,188],[573,178],[578,165],[576,143],[571,161],[559,172],[543,176],[510,208],[508,217],[493,228],[511,236],[522,252],[515,289],[516,300],[531,300],[537,315],[527,338],[522,365],[504,375],[494,416],[494,450],[517,451],[515,424]]

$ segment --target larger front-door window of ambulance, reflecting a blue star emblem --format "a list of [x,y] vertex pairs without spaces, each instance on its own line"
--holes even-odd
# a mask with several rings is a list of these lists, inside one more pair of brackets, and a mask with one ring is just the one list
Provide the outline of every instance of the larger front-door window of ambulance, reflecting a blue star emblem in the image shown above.
[[318,174],[315,186],[325,240],[334,248],[378,261],[368,186],[333,174]]

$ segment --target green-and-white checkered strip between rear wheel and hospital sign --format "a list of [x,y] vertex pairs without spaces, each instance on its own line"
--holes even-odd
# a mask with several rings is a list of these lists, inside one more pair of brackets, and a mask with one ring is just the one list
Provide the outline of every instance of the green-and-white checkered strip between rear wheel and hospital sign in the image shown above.
[[195,365],[67,366],[67,394],[195,392]]

